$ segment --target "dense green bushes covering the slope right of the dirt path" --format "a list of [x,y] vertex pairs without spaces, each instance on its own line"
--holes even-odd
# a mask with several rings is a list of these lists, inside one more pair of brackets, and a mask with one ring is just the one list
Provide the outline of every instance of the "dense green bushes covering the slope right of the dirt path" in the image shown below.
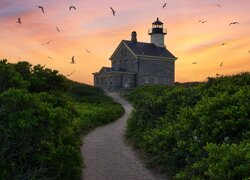
[[151,164],[175,179],[250,178],[249,73],[126,97],[135,107],[127,136]]

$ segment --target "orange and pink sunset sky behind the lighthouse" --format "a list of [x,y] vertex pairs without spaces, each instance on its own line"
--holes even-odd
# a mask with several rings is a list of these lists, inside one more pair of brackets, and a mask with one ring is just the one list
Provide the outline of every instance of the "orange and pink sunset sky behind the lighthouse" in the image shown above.
[[250,71],[249,9],[250,0],[0,0],[0,59],[46,65],[63,75],[74,71],[70,79],[92,84],[92,73],[111,66],[109,57],[132,31],[150,42],[148,29],[159,17],[167,49],[178,57],[175,81],[204,81]]

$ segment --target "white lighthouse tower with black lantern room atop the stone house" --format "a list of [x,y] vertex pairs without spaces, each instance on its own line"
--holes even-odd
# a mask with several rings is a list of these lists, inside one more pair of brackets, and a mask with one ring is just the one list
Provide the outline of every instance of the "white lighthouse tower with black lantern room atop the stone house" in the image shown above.
[[148,34],[151,37],[151,43],[157,47],[166,48],[164,44],[164,36],[167,34],[167,30],[163,29],[163,23],[159,21],[159,18],[152,23],[152,28],[149,29]]

